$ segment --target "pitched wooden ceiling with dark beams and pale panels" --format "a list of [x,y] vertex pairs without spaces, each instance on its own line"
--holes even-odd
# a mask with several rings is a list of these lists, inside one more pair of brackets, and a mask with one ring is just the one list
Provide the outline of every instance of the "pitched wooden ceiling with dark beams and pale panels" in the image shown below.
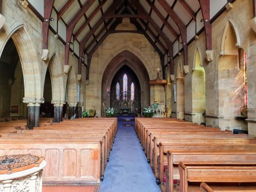
[[[171,73],[174,73],[173,44],[176,40],[179,42],[179,46],[184,51],[184,64],[187,65],[187,27],[196,20],[200,10],[204,18],[209,18],[209,1],[44,0],[44,18],[50,18],[51,11],[54,9],[57,12],[57,20],[61,19],[66,24],[65,65],[68,65],[70,44],[74,40],[79,42],[79,74],[81,74],[82,62],[87,59],[87,78],[89,78],[90,59],[93,53],[109,34],[115,32],[143,34],[159,53],[163,69],[164,62],[170,62]],[[115,31],[115,27],[122,22],[122,18],[130,18],[130,22],[137,27],[137,30]],[[205,20],[204,23],[208,24],[208,31],[211,32],[210,23]],[[196,25],[194,29],[189,30],[196,31]],[[43,39],[46,39],[46,42],[43,42],[46,44],[45,48],[47,36]],[[208,41],[208,44],[210,49],[211,42]],[[167,61],[164,61],[166,55]]]

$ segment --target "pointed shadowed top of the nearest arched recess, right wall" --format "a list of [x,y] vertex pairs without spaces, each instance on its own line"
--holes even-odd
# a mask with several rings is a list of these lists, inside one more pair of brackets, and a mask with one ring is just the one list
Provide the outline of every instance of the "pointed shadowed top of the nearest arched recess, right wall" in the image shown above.
[[236,49],[240,45],[240,36],[236,24],[228,19],[221,41],[221,55],[236,55]]

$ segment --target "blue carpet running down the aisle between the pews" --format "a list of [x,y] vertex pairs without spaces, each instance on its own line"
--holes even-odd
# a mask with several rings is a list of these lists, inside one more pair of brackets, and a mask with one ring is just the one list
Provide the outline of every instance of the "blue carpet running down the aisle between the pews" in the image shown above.
[[[134,124],[134,123],[133,123]],[[118,132],[100,192],[158,192],[154,174],[134,131],[118,121]]]

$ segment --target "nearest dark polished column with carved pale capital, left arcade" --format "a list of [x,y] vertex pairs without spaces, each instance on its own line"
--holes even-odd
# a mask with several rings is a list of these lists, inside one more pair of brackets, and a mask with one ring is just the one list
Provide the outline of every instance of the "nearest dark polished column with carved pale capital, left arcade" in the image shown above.
[[32,130],[39,127],[39,112],[41,103],[44,103],[43,98],[23,98],[23,103],[27,103],[27,128]]

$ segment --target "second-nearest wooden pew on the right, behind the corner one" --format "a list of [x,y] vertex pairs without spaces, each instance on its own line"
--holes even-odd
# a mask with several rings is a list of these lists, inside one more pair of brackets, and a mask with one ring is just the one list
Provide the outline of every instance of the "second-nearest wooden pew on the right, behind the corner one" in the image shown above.
[[[256,149],[256,148],[255,148]],[[198,149],[197,149],[198,150]],[[161,175],[164,191],[174,190],[174,180],[180,180],[179,170],[177,166],[179,162],[184,162],[189,165],[256,165],[256,150],[248,149],[246,151],[168,151],[167,152],[167,169],[166,169],[166,185],[164,186]]]

